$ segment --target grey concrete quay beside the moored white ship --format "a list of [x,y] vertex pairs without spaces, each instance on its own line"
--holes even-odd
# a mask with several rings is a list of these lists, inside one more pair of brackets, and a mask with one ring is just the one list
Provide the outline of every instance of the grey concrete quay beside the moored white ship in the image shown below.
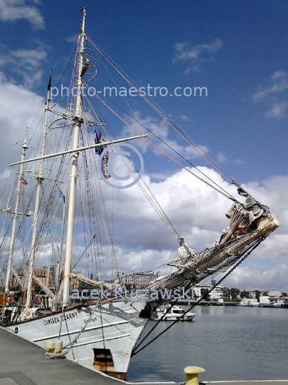
[[[45,349],[17,337],[0,327],[0,385],[132,385],[112,379],[68,359],[47,359]],[[184,368],[183,368],[184,369]],[[185,379],[185,374],[183,374]],[[200,378],[201,379],[201,378]],[[138,382],[137,384],[178,385],[175,382]],[[184,384],[184,383],[181,383]],[[215,385],[288,385],[277,381],[215,381]],[[205,385],[201,384],[201,385]]]

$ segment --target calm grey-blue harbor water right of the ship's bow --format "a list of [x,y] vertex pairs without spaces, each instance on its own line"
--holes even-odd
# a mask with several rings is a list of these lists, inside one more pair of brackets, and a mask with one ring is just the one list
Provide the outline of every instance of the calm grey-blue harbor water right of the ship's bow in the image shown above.
[[[190,365],[206,369],[201,381],[288,379],[288,309],[198,306],[192,312],[193,322],[177,322],[132,357],[127,381],[183,382]],[[169,324],[161,322],[146,342]]]

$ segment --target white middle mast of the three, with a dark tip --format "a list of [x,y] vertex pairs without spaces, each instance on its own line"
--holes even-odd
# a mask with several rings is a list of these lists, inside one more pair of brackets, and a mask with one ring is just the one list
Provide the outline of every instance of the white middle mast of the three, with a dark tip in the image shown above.
[[[49,78],[49,83],[47,88],[46,109],[45,109],[44,127],[43,127],[42,143],[41,143],[41,156],[43,156],[45,153],[45,144],[46,144],[46,136],[47,136],[47,128],[48,128],[48,110],[49,110],[50,101],[51,101],[50,99],[51,75],[52,75],[52,68],[50,69],[50,78]],[[39,215],[39,208],[40,208],[39,201],[40,201],[42,181],[43,181],[43,159],[40,160],[38,178],[37,178],[35,211],[34,211],[34,220],[32,225],[31,253],[30,253],[29,267],[28,267],[26,308],[30,306],[31,299],[32,299],[32,287],[33,287],[32,277],[33,277],[33,270],[35,265],[37,222],[38,222],[38,215]]]

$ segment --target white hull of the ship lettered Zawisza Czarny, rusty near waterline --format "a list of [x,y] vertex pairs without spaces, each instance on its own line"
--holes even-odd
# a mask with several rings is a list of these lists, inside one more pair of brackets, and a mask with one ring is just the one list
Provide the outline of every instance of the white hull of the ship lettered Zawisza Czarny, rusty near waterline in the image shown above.
[[[66,355],[68,359],[87,367],[103,371],[106,374],[125,379],[132,349],[142,333],[148,319],[139,318],[145,302],[113,302],[102,304],[95,310],[95,305],[74,307],[61,312],[13,324],[6,329],[18,337],[27,339],[40,347],[45,347],[47,339],[60,339],[63,347],[77,338]],[[82,327],[85,330],[80,333]],[[63,349],[65,351],[65,349]]]

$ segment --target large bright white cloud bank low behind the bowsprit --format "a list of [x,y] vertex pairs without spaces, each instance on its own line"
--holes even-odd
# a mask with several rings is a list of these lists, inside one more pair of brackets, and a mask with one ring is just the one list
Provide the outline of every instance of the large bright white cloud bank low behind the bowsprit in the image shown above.
[[[201,170],[229,193],[236,195],[235,187],[223,182],[215,171],[205,167]],[[184,170],[161,182],[151,182],[146,175],[145,181],[178,234],[185,237],[196,252],[211,245],[229,225],[225,212],[232,202]],[[288,270],[287,185],[288,176],[274,176],[262,183],[243,185],[257,200],[271,207],[281,225],[248,257],[249,267],[241,265],[225,280],[225,285],[251,289],[262,289],[266,285],[264,289],[284,290],[287,284],[284,272]],[[108,193],[109,190],[104,187],[103,191]],[[120,270],[151,270],[177,258],[176,235],[174,237],[159,221],[137,186],[122,190],[113,205],[114,245],[117,245]],[[270,270],[272,273],[269,275]],[[169,271],[168,267],[161,268],[161,274]]]

